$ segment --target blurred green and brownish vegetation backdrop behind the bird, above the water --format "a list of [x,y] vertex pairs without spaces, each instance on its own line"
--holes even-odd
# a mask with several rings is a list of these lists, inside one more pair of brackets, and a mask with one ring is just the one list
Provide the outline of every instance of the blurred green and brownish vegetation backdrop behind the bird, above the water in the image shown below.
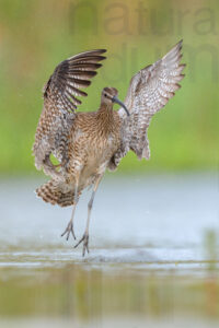
[[124,99],[135,72],[184,39],[182,89],[149,129],[151,160],[119,172],[214,171],[219,130],[218,1],[0,1],[0,174],[35,175],[32,144],[42,87],[56,65],[106,48],[107,60],[79,110],[95,110],[102,87]]

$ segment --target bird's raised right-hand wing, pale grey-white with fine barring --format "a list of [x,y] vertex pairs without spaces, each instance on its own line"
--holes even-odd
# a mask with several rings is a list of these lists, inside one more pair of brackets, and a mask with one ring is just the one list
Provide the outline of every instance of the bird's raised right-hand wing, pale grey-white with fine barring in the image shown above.
[[150,157],[147,137],[150,120],[174,96],[174,92],[181,87],[178,82],[184,78],[182,71],[185,65],[180,63],[181,49],[182,40],[162,59],[140,70],[131,79],[125,101],[130,117],[127,117],[123,108],[118,112],[124,120],[120,155],[132,150],[139,159]]

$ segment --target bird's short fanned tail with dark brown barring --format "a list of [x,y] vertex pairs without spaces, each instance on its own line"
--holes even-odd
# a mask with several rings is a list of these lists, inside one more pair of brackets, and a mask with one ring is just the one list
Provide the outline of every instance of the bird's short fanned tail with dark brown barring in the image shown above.
[[[60,207],[68,207],[74,203],[74,186],[69,186],[66,183],[57,181],[55,179],[42,185],[36,189],[36,195],[43,198],[44,201],[51,204],[59,204]],[[78,196],[81,192],[79,191]]]

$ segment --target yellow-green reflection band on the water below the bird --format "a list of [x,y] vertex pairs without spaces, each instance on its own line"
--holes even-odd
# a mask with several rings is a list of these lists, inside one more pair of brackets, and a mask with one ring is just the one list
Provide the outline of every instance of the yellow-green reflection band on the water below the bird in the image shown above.
[[[104,266],[104,265],[103,265]],[[1,317],[103,318],[177,316],[219,318],[217,276],[157,276],[155,270],[136,276],[116,265],[114,271],[69,263],[62,268],[1,269]],[[113,272],[113,273],[112,273]],[[146,274],[145,274],[146,273]],[[100,326],[101,327],[101,326]]]

